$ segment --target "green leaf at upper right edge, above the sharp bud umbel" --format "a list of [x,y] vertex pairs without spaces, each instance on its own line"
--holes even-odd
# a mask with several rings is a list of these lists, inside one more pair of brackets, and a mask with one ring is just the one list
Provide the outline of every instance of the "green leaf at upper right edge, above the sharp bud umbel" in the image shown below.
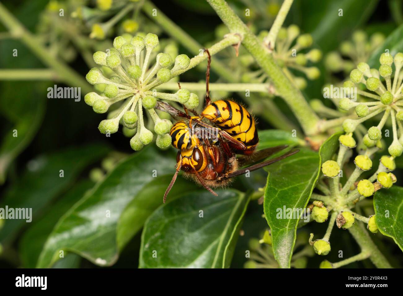
[[389,50],[389,54],[395,56],[398,52],[403,52],[403,25],[400,25],[389,35],[383,44],[381,44],[370,56],[368,64],[371,68],[379,68],[379,57]]

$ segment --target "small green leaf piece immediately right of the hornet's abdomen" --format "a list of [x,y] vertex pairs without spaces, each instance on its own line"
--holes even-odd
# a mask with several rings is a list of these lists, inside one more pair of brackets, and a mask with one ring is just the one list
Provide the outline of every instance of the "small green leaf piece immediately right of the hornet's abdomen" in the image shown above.
[[260,130],[258,150],[275,147],[278,145],[296,146],[299,144],[297,137],[285,130]]

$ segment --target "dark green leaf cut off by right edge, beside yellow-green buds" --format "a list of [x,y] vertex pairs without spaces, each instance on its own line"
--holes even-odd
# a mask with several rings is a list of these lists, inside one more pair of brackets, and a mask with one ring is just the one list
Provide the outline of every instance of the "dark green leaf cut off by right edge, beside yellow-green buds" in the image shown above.
[[[403,251],[403,188],[393,185],[374,195],[375,223]],[[386,215],[388,214],[388,215]]]

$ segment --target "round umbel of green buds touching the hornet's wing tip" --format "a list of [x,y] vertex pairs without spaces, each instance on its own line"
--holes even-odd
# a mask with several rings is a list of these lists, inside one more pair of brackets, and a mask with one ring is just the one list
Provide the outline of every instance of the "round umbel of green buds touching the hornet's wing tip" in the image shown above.
[[[166,52],[154,53],[158,45],[158,36],[152,33],[143,37],[118,36],[113,41],[113,48],[93,54],[94,61],[101,68],[92,68],[86,76],[87,81],[96,85],[101,93],[87,93],[85,103],[96,113],[112,110],[98,129],[104,134],[112,134],[118,131],[119,124],[122,125],[123,134],[131,137],[130,145],[134,150],[151,143],[154,137],[153,132],[146,128],[143,112],[148,112],[153,121],[157,146],[162,149],[170,146],[172,122],[160,118],[156,111],[158,99],[183,104],[190,110],[199,105],[197,95],[187,89],[179,89],[176,93],[155,91],[155,87],[170,81],[177,71],[188,68],[190,64],[185,54],[173,58]],[[154,58],[155,64],[150,66]]]

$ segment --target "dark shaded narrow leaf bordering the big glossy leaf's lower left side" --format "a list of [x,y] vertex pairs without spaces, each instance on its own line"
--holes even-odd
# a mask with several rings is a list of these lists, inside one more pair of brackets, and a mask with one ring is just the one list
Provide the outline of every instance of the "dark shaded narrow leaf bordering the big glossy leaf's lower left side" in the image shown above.
[[[89,180],[75,184],[60,200],[47,209],[46,214],[44,214],[39,221],[33,223],[23,234],[19,244],[23,267],[34,268],[36,266],[39,254],[57,221],[79,201],[85,192],[91,189],[93,185],[94,183]],[[66,261],[66,259],[67,258],[63,261]],[[64,263],[62,265],[64,265]]]

